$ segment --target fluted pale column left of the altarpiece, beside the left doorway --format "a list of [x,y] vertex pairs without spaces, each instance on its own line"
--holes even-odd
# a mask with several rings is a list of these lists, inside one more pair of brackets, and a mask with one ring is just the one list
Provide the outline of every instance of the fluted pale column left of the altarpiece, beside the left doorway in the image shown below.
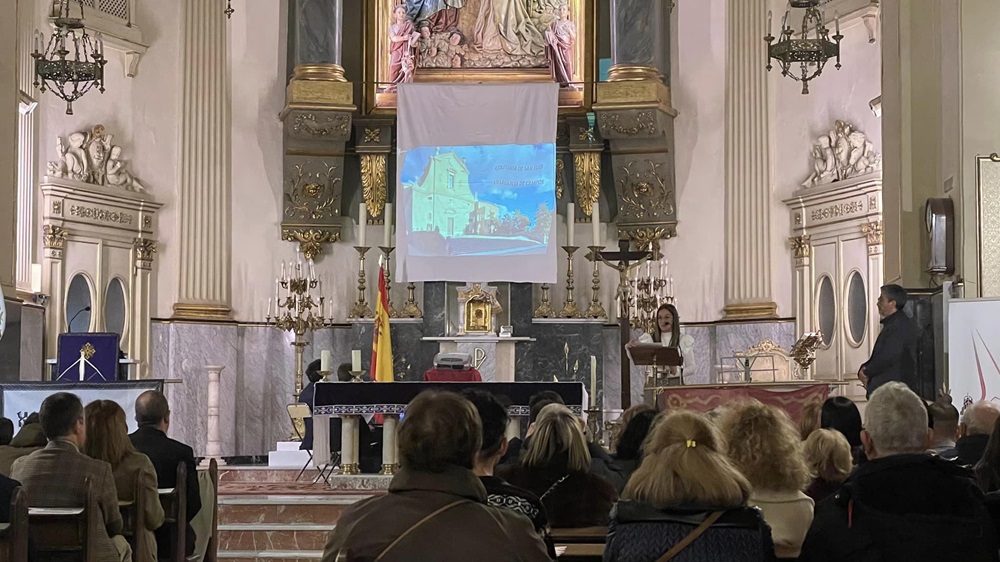
[[175,318],[232,317],[231,99],[226,15],[183,0]]

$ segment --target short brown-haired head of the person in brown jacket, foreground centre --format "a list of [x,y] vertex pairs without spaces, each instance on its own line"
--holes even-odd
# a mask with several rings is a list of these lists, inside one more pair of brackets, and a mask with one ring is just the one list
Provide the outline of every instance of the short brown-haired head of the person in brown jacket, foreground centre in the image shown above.
[[417,472],[471,469],[482,432],[471,402],[452,392],[422,392],[407,405],[399,427],[401,465]]

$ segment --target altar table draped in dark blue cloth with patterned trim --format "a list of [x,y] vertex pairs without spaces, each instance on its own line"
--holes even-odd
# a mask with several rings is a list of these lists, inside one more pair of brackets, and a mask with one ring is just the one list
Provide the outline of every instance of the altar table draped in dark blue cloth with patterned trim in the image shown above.
[[[507,413],[513,419],[527,418],[532,396],[551,390],[562,396],[563,402],[575,414],[582,414],[588,403],[587,390],[581,382],[318,382],[313,395],[313,463],[317,467],[330,462],[329,419],[339,416],[341,422],[341,472],[358,471],[358,423],[365,415],[383,416],[383,473],[392,473],[397,464],[396,428],[409,404],[425,390],[461,392],[466,388],[484,390],[509,404]],[[509,430],[517,431],[511,424]]]

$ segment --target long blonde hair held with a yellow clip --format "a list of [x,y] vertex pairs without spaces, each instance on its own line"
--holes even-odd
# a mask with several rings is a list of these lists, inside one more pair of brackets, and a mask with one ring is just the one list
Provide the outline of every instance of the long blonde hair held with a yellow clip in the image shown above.
[[750,483],[726,458],[718,428],[686,410],[660,415],[646,442],[642,464],[625,485],[622,498],[661,509],[744,505]]

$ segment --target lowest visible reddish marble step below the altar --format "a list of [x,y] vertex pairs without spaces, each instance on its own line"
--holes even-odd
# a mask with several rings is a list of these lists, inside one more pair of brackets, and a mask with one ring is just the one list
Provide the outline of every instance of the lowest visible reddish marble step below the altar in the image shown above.
[[219,550],[226,552],[322,551],[335,526],[313,523],[220,524]]

